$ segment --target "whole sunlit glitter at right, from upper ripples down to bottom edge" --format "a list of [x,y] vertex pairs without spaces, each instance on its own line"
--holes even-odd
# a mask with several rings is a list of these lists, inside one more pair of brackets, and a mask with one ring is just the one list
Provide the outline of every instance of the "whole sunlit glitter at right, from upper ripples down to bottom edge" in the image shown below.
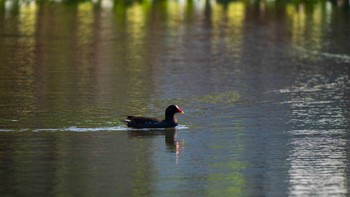
[[[311,55],[347,63],[343,56],[321,52]],[[347,67],[341,67],[336,74],[299,73],[294,86],[278,91],[289,98],[281,104],[290,108],[289,124],[295,129],[288,131],[291,195],[348,193],[348,112],[344,109],[348,106],[350,83],[343,69]]]

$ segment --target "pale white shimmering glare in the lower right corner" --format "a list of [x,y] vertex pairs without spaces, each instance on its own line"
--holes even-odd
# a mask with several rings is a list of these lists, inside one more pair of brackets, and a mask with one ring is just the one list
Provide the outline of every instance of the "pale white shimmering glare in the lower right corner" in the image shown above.
[[291,195],[346,194],[347,141],[342,139],[345,130],[290,131],[294,136],[291,145]]

